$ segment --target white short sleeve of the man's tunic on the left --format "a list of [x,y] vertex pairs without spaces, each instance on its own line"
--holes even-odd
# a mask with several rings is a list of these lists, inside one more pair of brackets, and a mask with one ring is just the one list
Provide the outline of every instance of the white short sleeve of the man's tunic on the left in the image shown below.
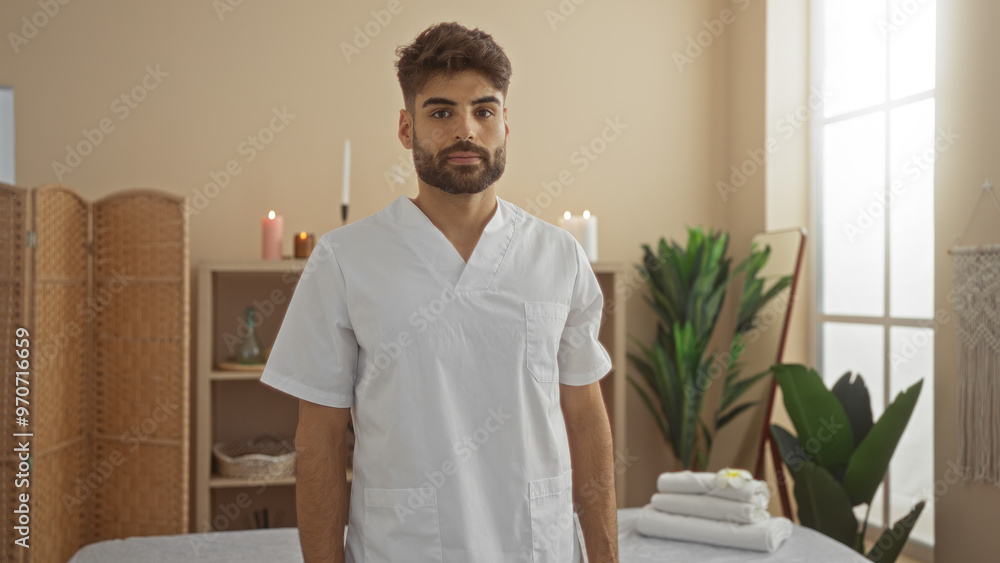
[[328,407],[354,404],[358,342],[334,243],[322,237],[292,293],[260,380]]

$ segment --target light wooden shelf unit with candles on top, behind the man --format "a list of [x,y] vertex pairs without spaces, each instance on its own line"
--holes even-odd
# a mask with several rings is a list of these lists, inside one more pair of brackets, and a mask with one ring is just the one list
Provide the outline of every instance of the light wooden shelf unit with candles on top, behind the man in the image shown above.
[[[295,525],[294,477],[267,482],[221,477],[213,473],[212,445],[220,440],[252,438],[266,432],[285,438],[294,436],[296,399],[260,384],[262,370],[225,371],[218,364],[235,352],[234,346],[241,339],[237,326],[247,305],[254,304],[263,316],[257,327],[261,345],[269,347],[274,342],[305,263],[305,260],[286,259],[199,265],[192,531],[249,527],[248,522],[253,521],[250,512],[272,503],[279,504],[285,515],[282,522],[273,522],[275,525]],[[613,367],[601,380],[601,391],[611,421],[617,468],[626,455],[625,303],[616,298],[624,267],[610,262],[595,262],[592,267],[604,292],[600,340],[611,355]],[[267,416],[261,416],[262,413]],[[626,471],[615,472],[619,508],[624,506],[626,474]],[[348,483],[351,476],[348,468]],[[235,502],[232,493],[236,491],[245,492],[250,504],[241,506],[240,514],[234,518],[233,510],[227,506]]]

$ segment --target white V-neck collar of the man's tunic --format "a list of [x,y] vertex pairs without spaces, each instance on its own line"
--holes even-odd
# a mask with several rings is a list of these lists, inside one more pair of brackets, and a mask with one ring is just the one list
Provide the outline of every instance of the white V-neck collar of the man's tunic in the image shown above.
[[430,274],[453,291],[488,290],[514,239],[520,209],[496,198],[493,216],[486,223],[476,248],[466,263],[448,237],[405,194],[386,208],[403,239]]

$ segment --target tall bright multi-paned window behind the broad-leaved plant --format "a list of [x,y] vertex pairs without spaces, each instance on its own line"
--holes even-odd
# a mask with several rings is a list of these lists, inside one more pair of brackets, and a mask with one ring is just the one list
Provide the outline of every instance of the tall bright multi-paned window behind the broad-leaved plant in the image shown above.
[[[877,418],[924,380],[869,524],[927,506],[911,541],[934,544],[935,0],[813,0],[813,217],[818,368],[860,373]],[[859,519],[865,507],[858,507]]]

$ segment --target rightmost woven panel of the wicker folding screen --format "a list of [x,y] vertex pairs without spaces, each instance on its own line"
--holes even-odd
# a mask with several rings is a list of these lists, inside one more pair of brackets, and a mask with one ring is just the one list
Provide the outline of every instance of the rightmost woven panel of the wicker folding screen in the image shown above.
[[183,199],[151,191],[94,203],[94,453],[125,462],[96,491],[93,541],[188,531],[183,209]]

